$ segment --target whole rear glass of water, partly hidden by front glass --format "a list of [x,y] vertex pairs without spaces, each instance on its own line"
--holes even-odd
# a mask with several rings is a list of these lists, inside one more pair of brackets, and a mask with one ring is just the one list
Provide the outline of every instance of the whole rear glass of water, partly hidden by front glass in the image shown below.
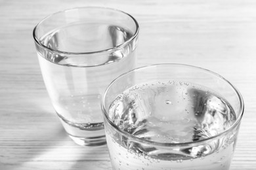
[[106,144],[101,96],[135,68],[139,25],[102,7],[56,12],[33,29],[43,80],[66,132],[83,146]]

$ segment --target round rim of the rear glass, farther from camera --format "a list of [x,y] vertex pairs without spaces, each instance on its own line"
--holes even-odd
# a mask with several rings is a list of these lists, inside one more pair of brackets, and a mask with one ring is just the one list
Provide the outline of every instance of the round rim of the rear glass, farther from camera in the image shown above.
[[[136,27],[136,30],[135,30],[135,33],[133,33],[133,36],[130,37],[127,41],[117,45],[117,46],[114,46],[112,48],[107,48],[107,49],[104,49],[104,50],[96,50],[96,51],[92,51],[92,52],[66,52],[66,51],[61,51],[61,50],[53,50],[52,48],[49,48],[47,46],[45,46],[44,44],[42,44],[38,37],[36,36],[36,31],[37,31],[37,27],[39,27],[40,24],[42,24],[43,22],[45,22],[45,20],[51,18],[52,16],[56,15],[56,14],[60,14],[62,12],[67,12],[69,10],[76,10],[76,9],[97,9],[97,10],[110,10],[110,11],[115,11],[115,12],[119,12],[121,14],[125,14],[127,16],[129,16],[133,22],[135,23],[135,27]],[[35,25],[35,27],[33,28],[33,39],[34,41],[39,45],[41,46],[42,48],[45,48],[51,52],[55,52],[55,53],[58,53],[58,54],[71,54],[71,55],[85,55],[85,54],[98,54],[98,53],[104,53],[104,52],[112,52],[114,50],[118,50],[120,48],[123,48],[124,46],[126,46],[127,44],[131,43],[134,39],[136,39],[136,37],[138,37],[139,35],[139,24],[137,22],[137,20],[135,20],[135,18],[133,16],[131,16],[131,14],[128,14],[127,12],[123,12],[122,10],[118,10],[118,9],[112,9],[112,8],[108,8],[108,7],[75,7],[75,8],[72,8],[72,9],[64,9],[64,10],[60,10],[58,12],[54,12],[53,14],[50,14],[48,16],[46,16],[45,18],[43,18],[43,20],[41,20],[37,25]]]

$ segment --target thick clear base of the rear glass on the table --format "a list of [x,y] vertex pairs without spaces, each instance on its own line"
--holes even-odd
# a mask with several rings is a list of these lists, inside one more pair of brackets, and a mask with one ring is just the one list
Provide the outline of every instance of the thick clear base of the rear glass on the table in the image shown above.
[[71,139],[76,144],[79,144],[81,146],[102,146],[106,144],[106,137],[94,137],[94,138],[85,138],[85,137],[74,137],[72,135],[69,135]]

